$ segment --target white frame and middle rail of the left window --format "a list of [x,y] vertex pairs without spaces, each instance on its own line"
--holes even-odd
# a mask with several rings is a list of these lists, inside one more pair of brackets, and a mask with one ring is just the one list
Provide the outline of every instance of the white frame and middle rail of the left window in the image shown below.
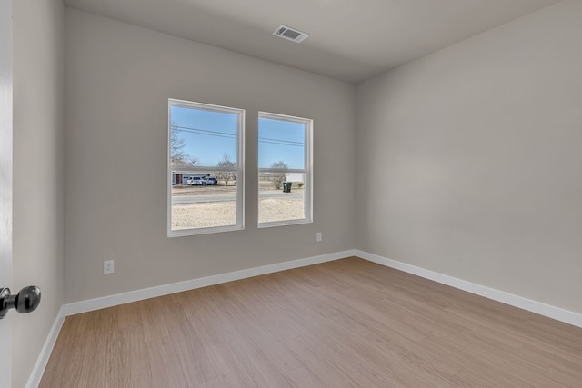
[[[170,157],[170,128],[171,128],[171,107],[181,106],[185,108],[205,109],[208,111],[237,114],[236,132],[236,168],[225,168],[217,166],[198,166],[182,168],[180,171],[187,172],[208,172],[208,171],[234,171],[236,172],[236,224],[226,226],[212,226],[206,228],[172,230],[172,160]],[[167,104],[167,236],[180,237],[196,234],[214,234],[221,232],[232,232],[245,229],[245,110],[232,108],[229,106],[195,103],[184,100],[168,98]]]

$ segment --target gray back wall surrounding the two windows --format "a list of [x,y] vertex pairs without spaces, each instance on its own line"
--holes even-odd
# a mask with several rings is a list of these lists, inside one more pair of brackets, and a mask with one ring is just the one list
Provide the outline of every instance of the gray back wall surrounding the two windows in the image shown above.
[[[65,70],[65,302],[354,247],[354,85],[71,9]],[[168,97],[246,109],[246,230],[166,237]],[[256,228],[259,110],[315,121],[313,224]]]

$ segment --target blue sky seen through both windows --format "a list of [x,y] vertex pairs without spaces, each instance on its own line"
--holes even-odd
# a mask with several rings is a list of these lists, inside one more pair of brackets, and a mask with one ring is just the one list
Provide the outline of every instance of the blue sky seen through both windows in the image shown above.
[[[236,162],[236,114],[171,106],[170,121],[186,141],[183,151],[196,156],[198,165],[215,166],[230,154]],[[284,161],[289,168],[304,168],[305,125],[258,119],[258,165]],[[253,128],[246,128],[246,133]],[[248,156],[248,155],[247,155]]]

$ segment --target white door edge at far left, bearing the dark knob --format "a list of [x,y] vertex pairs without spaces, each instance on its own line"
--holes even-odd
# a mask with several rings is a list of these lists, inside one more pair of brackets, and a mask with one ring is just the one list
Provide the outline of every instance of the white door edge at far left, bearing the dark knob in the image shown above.
[[[12,285],[12,3],[0,0],[0,288]],[[0,320],[3,386],[12,386],[10,315]]]

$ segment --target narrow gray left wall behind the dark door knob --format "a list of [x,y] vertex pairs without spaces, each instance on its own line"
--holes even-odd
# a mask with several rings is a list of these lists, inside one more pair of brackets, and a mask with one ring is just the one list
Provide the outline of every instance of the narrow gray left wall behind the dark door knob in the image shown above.
[[64,7],[14,2],[13,291],[42,290],[13,313],[13,386],[24,387],[63,304]]

